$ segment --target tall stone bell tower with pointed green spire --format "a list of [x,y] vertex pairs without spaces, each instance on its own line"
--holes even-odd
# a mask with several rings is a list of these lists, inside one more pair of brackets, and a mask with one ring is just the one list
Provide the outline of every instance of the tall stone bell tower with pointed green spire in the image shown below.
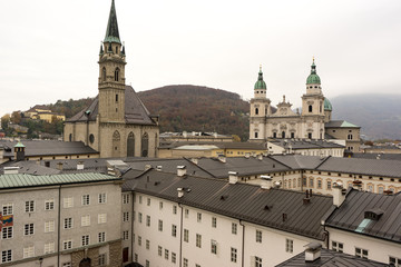
[[119,38],[113,0],[98,61],[100,122],[125,122],[125,47]]

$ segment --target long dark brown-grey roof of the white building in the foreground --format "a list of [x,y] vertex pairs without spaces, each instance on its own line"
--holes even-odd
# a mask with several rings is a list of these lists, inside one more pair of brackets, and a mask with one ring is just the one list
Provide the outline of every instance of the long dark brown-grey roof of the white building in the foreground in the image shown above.
[[[124,178],[130,179],[127,174]],[[320,240],[324,239],[321,219],[333,207],[329,196],[314,195],[309,204],[304,204],[305,195],[299,191],[265,190],[248,184],[231,185],[219,179],[177,177],[157,170],[149,170],[134,179],[136,184],[131,190],[136,192]],[[177,188],[184,188],[184,197],[177,197]],[[285,220],[283,214],[286,214]]]

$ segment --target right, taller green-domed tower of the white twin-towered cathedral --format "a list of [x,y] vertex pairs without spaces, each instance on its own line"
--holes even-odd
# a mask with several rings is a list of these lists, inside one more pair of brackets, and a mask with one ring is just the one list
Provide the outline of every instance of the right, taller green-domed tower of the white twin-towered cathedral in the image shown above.
[[314,59],[306,79],[306,93],[302,96],[302,138],[324,139],[324,96]]

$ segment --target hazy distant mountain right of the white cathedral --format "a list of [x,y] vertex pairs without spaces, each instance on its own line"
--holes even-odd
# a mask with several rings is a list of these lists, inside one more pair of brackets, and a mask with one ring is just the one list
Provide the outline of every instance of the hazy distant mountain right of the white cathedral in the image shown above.
[[330,101],[333,119],[361,126],[366,139],[401,139],[401,95],[350,95]]

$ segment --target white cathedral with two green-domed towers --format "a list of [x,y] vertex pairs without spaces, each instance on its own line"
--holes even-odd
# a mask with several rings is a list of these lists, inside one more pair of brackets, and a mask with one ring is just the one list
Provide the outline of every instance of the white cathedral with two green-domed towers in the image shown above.
[[301,111],[293,111],[292,105],[285,101],[285,96],[276,108],[273,107],[266,97],[266,90],[261,68],[254,97],[251,99],[250,141],[272,138],[341,139],[345,140],[349,151],[359,150],[360,127],[344,120],[332,120],[332,105],[323,96],[314,60],[302,96]]

